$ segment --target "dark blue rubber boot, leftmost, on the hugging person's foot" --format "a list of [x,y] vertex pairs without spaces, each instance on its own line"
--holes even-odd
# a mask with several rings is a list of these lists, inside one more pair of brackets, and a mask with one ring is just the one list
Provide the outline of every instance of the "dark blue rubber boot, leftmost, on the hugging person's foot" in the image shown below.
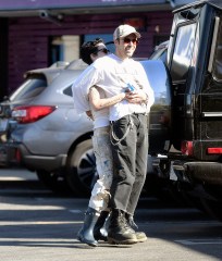
[[77,234],[77,239],[79,241],[85,243],[91,247],[98,246],[98,241],[94,237],[94,227],[98,221],[98,217],[99,212],[88,207],[84,219],[84,225]]

